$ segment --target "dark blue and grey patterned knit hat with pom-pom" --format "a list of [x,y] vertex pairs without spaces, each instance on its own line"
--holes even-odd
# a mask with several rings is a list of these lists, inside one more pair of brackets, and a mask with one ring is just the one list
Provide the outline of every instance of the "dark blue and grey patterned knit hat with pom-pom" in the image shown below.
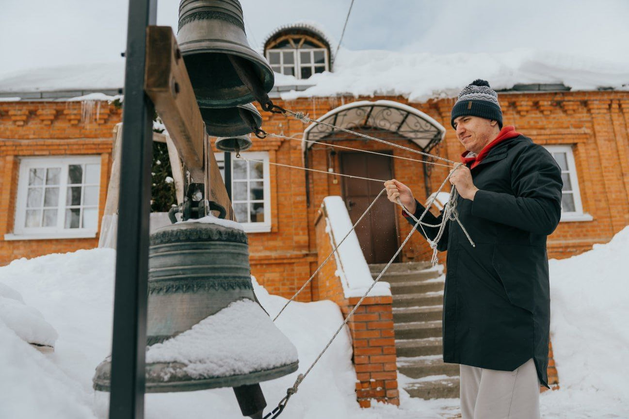
[[503,129],[503,111],[498,103],[498,94],[484,80],[474,80],[459,93],[459,99],[452,108],[452,119],[450,120],[452,128],[456,129],[454,126],[455,118],[464,115],[498,121],[498,127]]

